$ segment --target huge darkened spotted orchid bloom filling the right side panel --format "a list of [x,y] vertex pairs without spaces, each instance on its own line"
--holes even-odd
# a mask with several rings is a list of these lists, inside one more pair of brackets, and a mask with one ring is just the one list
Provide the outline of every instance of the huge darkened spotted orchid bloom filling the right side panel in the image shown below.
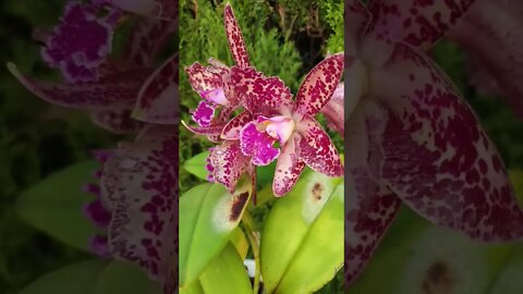
[[401,203],[473,240],[523,236],[494,144],[423,50],[473,1],[357,0],[345,9],[345,285]]

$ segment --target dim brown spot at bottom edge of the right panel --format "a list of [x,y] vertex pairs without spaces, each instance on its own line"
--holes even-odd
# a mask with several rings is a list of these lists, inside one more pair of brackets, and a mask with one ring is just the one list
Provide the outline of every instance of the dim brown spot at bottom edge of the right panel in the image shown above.
[[450,269],[443,262],[437,261],[427,270],[422,291],[424,294],[448,294],[452,293],[454,283]]

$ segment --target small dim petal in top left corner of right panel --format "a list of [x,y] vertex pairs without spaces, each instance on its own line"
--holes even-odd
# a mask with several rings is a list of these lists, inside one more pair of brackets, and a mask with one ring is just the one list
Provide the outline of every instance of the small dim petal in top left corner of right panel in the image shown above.
[[370,23],[370,12],[361,0],[345,0],[345,56],[356,56]]

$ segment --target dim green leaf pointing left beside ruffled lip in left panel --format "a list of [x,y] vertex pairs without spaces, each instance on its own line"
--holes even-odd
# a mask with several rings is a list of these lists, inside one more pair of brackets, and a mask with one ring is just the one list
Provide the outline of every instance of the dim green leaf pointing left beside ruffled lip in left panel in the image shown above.
[[82,191],[94,182],[93,172],[99,168],[96,161],[84,161],[56,172],[19,195],[17,215],[36,229],[89,252],[88,238],[94,225],[82,213],[82,206],[95,196]]

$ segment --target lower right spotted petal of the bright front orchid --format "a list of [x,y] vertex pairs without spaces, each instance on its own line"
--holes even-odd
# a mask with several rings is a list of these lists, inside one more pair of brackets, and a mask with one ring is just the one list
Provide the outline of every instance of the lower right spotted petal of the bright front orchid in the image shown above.
[[311,117],[304,117],[296,128],[302,135],[300,159],[314,171],[329,176],[342,176],[343,166],[338,150],[318,122]]

